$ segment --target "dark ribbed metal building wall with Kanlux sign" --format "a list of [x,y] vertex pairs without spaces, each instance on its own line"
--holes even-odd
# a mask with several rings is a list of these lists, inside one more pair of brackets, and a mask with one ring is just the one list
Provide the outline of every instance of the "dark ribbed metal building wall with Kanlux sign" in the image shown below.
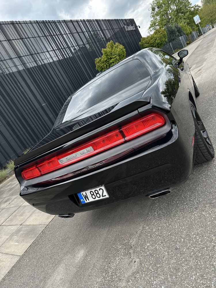
[[140,50],[133,19],[0,22],[0,167],[52,129],[110,40]]

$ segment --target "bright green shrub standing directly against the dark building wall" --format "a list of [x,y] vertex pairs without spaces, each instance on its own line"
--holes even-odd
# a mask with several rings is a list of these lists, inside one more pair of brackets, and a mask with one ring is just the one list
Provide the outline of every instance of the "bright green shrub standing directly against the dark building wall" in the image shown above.
[[124,46],[118,42],[114,44],[112,40],[107,43],[106,48],[102,48],[102,54],[102,57],[95,59],[98,71],[104,71],[126,57]]

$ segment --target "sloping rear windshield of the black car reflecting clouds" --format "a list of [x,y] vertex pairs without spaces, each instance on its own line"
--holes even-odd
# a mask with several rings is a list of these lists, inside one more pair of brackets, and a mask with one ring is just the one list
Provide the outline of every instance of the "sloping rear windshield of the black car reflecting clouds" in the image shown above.
[[149,73],[142,62],[135,59],[95,79],[69,97],[58,116],[55,128],[148,76]]

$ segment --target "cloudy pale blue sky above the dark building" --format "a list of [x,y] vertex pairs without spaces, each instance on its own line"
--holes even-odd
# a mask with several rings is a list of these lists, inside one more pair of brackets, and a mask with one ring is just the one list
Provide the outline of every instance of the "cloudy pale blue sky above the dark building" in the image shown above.
[[[201,0],[192,0],[200,4]],[[0,0],[0,21],[134,18],[148,34],[151,0]]]

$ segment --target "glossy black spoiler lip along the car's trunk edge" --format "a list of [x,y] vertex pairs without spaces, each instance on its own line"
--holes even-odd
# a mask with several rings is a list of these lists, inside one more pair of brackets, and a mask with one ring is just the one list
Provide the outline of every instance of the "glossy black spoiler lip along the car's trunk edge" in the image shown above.
[[91,132],[92,130],[100,128],[101,126],[104,126],[105,124],[109,122],[115,121],[118,118],[121,118],[131,112],[134,112],[137,110],[137,113],[139,113],[138,109],[148,104],[150,104],[150,96],[140,98],[139,100],[129,103],[128,105],[124,107],[111,111],[110,113],[104,115],[103,117],[100,117],[78,128],[75,131],[71,131],[41,147],[38,147],[35,150],[32,150],[32,151],[30,150],[28,153],[16,158],[14,160],[14,165],[19,166],[20,164],[30,161],[31,159],[34,159],[37,156],[40,156],[40,155],[42,156],[46,152],[51,151],[55,149],[56,147],[59,147],[60,145],[64,145],[67,142],[70,142],[84,134],[87,134],[88,132]]

